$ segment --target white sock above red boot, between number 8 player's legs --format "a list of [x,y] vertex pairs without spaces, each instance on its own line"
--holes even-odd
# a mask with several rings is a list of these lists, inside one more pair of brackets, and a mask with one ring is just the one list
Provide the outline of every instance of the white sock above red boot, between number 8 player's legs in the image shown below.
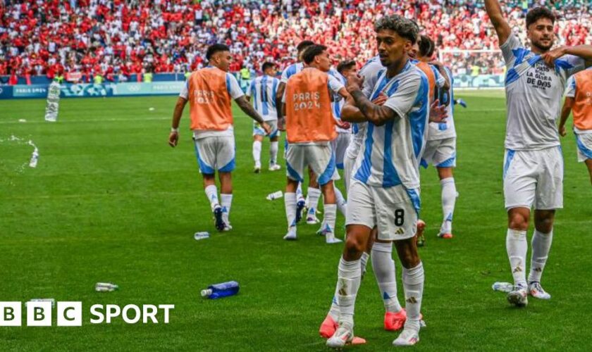
[[384,308],[387,312],[396,313],[401,310],[397,298],[397,279],[395,277],[395,262],[393,261],[393,242],[374,242],[372,245],[372,269],[381,297],[384,301]]

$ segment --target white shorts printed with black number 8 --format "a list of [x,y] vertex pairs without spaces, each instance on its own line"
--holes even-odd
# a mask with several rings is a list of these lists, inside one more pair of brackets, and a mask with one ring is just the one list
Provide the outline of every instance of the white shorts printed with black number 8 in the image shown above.
[[378,239],[398,241],[415,236],[419,189],[371,187],[352,180],[347,192],[345,225],[378,227]]

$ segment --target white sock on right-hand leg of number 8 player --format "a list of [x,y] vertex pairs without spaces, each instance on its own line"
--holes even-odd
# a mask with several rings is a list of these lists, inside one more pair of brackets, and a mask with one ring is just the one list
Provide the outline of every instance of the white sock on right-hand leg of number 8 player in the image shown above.
[[424,294],[424,265],[421,262],[415,268],[403,268],[403,288],[405,289],[405,310],[407,310],[405,329],[419,331],[421,297]]

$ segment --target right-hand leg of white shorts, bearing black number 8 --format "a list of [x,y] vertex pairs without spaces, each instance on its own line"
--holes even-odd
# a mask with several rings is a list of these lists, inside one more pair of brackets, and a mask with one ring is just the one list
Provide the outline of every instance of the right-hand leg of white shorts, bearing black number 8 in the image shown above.
[[377,238],[398,241],[415,236],[419,191],[407,191],[402,186],[371,187],[376,202]]

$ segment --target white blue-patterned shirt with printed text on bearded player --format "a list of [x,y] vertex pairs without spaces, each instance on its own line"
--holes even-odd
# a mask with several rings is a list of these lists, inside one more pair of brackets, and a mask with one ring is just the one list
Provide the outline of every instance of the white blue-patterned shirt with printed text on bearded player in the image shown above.
[[507,68],[505,148],[524,151],[560,146],[555,120],[561,115],[562,94],[567,78],[584,70],[584,59],[565,55],[550,68],[514,34],[500,49]]

